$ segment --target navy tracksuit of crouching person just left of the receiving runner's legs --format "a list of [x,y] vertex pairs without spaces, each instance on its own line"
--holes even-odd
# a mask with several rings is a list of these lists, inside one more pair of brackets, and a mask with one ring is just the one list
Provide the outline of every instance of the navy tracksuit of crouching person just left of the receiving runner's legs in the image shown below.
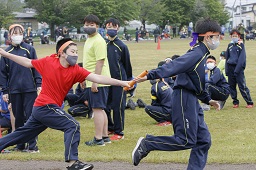
[[145,111],[157,122],[171,122],[172,91],[172,88],[163,81],[158,81],[151,87],[152,102],[145,107]]

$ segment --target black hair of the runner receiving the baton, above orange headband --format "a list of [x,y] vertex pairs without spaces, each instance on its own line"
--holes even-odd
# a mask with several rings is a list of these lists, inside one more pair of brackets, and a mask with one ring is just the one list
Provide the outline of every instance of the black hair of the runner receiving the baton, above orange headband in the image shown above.
[[[205,34],[207,32],[219,32],[221,33],[221,27],[217,21],[211,20],[210,18],[201,19],[196,22],[195,32],[198,34]],[[198,36],[198,41],[204,40],[204,36]]]

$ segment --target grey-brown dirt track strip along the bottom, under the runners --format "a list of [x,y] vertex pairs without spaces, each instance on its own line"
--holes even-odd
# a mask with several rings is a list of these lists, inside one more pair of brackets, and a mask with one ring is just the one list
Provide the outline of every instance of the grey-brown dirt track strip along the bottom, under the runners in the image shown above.
[[[137,167],[124,162],[91,162],[93,170],[185,170],[184,164],[149,164],[140,163]],[[13,161],[0,160],[0,170],[65,170],[67,163],[57,161]],[[256,164],[212,164],[205,170],[255,170]]]

